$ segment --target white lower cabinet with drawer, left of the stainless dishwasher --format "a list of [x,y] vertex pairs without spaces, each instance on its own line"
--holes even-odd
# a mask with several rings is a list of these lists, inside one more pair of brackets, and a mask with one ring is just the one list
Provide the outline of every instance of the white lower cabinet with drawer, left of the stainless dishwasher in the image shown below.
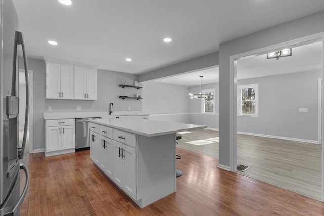
[[75,152],[75,119],[46,120],[45,156]]

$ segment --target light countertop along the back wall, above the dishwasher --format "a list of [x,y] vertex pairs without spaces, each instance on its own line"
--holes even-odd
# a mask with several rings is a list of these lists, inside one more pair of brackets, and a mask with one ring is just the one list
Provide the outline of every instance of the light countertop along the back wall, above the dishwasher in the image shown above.
[[43,118],[51,119],[71,119],[71,118],[94,118],[94,117],[113,117],[113,116],[144,116],[140,111],[115,111],[112,115],[109,112],[45,112]]

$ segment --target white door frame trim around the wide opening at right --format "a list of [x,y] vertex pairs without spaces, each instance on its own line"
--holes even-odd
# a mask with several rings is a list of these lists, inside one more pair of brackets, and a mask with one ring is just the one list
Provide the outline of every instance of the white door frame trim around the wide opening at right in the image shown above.
[[[237,60],[245,58],[247,56],[257,56],[257,55],[262,55],[266,54],[272,51],[276,51],[278,49],[284,49],[285,47],[290,47],[290,46],[302,46],[305,44],[310,44],[311,42],[316,42],[316,41],[322,41],[322,53],[324,52],[324,32],[322,33],[317,33],[313,35],[309,35],[306,37],[282,42],[280,44],[276,45],[271,45],[268,47],[260,48],[257,50],[252,50],[249,52],[245,53],[240,53],[236,54],[233,56],[230,56],[230,89],[234,94],[230,94],[230,110],[232,111],[232,115],[230,116],[230,140],[232,142],[229,143],[230,145],[230,171],[236,172],[237,171],[237,112],[235,110],[237,109],[237,70],[236,70],[236,64]],[[322,78],[324,77],[323,73],[323,68],[324,68],[324,55],[322,54]],[[322,97],[323,97],[323,89],[322,89]],[[323,98],[321,100],[323,102]],[[324,120],[321,119],[322,125],[324,123]],[[323,128],[322,128],[323,129]],[[323,134],[323,131],[321,131]],[[324,201],[324,165],[323,165],[323,157],[324,157],[324,149],[322,148],[322,201]]]

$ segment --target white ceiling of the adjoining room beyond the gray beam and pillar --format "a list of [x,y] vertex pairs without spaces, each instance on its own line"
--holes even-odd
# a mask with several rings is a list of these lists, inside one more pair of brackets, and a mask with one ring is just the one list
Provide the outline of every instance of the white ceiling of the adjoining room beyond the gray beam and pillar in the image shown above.
[[[322,68],[322,42],[292,48],[292,56],[267,59],[267,54],[251,56],[237,61],[237,79],[249,79],[262,76],[273,76],[286,73],[320,70]],[[181,75],[155,80],[184,86],[218,82],[218,67],[190,71]]]

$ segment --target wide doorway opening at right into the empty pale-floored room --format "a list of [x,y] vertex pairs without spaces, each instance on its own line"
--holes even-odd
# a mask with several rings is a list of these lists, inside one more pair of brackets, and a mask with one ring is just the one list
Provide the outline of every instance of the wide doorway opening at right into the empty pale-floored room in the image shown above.
[[[237,171],[236,165],[244,163],[250,168],[245,172],[237,171],[239,174],[322,200],[322,118],[319,110],[322,104],[319,93],[322,93],[322,89],[319,89],[321,85],[318,84],[318,79],[323,77],[323,43],[320,36],[314,37],[231,57],[231,71],[235,77],[234,82],[237,81],[234,91],[240,89],[240,85],[255,83],[258,83],[259,89],[259,101],[255,102],[259,105],[259,113],[254,117],[239,115],[242,95],[239,91],[234,95],[233,104],[237,116],[234,114],[235,139],[231,152],[231,170]],[[294,53],[298,54],[298,49],[315,45],[319,48],[319,54],[316,57],[317,63],[310,64],[312,67],[306,68],[299,65],[303,62],[297,62],[297,70],[286,68],[286,74],[267,74],[269,71],[266,71],[261,77],[265,69],[254,65],[261,76],[239,81],[242,75],[240,64],[244,65],[249,57],[262,57],[267,63],[270,60],[275,63],[281,60],[281,64],[289,62],[291,57],[267,60],[266,54],[288,47],[292,48],[294,56]],[[308,57],[306,55],[302,60]],[[315,61],[314,58],[309,60]],[[293,68],[295,65],[290,63],[287,66]],[[278,73],[284,67],[285,65],[280,65],[279,69],[272,69],[270,73]]]

